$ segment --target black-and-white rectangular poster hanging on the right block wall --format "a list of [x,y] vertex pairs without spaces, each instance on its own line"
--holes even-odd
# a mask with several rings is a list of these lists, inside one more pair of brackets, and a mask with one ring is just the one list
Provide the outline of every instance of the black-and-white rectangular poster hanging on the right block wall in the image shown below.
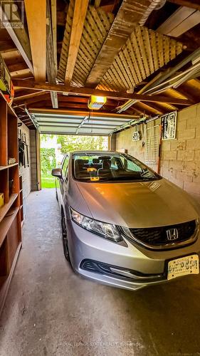
[[177,111],[162,115],[162,140],[173,140],[176,138]]

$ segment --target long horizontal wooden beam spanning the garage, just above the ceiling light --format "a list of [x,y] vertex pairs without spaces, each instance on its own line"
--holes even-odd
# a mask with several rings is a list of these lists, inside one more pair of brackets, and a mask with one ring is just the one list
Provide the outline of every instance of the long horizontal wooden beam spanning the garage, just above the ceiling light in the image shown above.
[[77,88],[72,87],[70,85],[49,85],[44,83],[35,83],[31,80],[13,80],[14,86],[17,88],[29,88],[43,91],[56,91],[60,93],[73,93],[77,95],[99,95],[106,96],[107,98],[115,99],[115,100],[127,100],[127,99],[136,99],[140,101],[147,102],[161,102],[161,103],[169,103],[169,104],[177,104],[177,105],[191,105],[189,100],[176,99],[176,98],[167,98],[159,95],[145,95],[145,94],[135,94],[135,93],[126,93],[126,92],[112,92],[107,90],[98,90],[91,88]]

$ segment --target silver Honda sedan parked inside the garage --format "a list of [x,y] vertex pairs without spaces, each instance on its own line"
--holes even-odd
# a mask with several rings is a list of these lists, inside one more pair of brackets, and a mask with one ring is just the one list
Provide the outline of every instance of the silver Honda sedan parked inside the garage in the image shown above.
[[145,164],[118,152],[76,151],[52,174],[75,272],[129,290],[199,273],[195,203]]

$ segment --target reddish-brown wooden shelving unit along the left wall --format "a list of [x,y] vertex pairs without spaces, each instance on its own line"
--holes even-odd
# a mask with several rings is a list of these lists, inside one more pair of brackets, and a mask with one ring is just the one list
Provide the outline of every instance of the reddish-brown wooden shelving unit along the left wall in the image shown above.
[[[17,117],[0,93],[0,313],[21,248]],[[9,164],[9,158],[16,159]]]

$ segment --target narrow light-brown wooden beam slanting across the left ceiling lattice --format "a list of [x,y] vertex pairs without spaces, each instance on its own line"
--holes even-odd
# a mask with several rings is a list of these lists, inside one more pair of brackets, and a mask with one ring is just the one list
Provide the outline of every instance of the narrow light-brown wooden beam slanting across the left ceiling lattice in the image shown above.
[[78,48],[80,46],[80,38],[83,32],[88,3],[89,0],[75,0],[70,46],[68,51],[68,62],[65,71],[65,83],[70,83],[73,77],[73,70],[75,68],[75,62],[78,55]]

